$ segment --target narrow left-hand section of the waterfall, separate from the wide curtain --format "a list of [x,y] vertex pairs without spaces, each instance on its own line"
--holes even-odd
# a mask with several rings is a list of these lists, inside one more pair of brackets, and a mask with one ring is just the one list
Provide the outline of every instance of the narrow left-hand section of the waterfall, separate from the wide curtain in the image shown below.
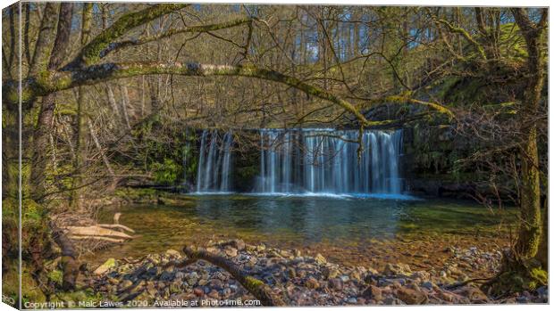
[[232,142],[231,131],[225,133],[223,137],[220,137],[216,130],[202,132],[198,154],[197,192],[231,190]]

